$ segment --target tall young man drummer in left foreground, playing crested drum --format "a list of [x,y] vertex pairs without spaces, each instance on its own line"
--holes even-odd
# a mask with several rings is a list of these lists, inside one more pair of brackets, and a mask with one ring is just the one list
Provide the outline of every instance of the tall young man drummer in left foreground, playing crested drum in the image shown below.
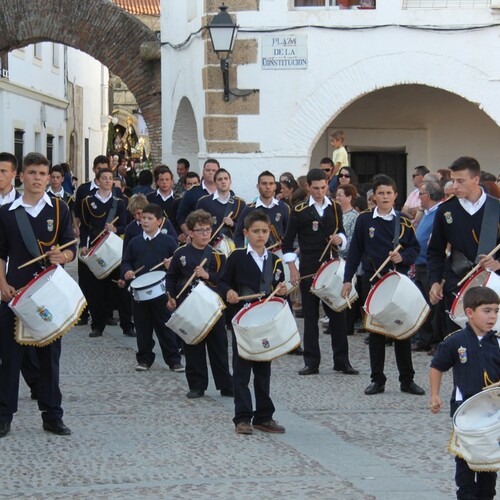
[[[11,427],[17,411],[19,372],[25,347],[15,341],[14,313],[8,303],[16,290],[26,286],[49,264],[66,264],[73,260],[76,246],[63,251],[58,246],[73,240],[71,216],[65,203],[51,199],[45,189],[49,182],[49,161],[39,153],[29,153],[20,175],[24,193],[14,202],[0,208],[0,437]],[[21,213],[22,212],[22,213]],[[30,240],[34,248],[28,248]],[[34,254],[47,258],[23,269],[18,267]],[[9,261],[8,271],[6,269]],[[59,388],[61,339],[36,348],[40,365],[38,407],[42,411],[43,429],[57,435],[71,431],[62,420],[62,395]]]

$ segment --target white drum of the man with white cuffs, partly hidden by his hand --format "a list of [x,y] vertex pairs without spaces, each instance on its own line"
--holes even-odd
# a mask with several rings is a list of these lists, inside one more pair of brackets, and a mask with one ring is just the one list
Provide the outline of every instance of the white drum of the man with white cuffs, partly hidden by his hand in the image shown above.
[[[319,297],[328,307],[336,312],[343,311],[347,306],[347,301],[341,297],[340,292],[344,284],[345,261],[338,257],[325,262],[316,273],[311,286],[311,293]],[[358,298],[356,292],[356,278],[353,279],[353,286],[349,294],[349,302],[352,303]]]

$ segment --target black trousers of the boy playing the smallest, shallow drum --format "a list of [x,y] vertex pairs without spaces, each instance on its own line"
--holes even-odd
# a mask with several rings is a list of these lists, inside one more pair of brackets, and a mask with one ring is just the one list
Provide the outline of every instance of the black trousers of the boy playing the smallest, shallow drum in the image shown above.
[[181,357],[177,349],[175,333],[165,326],[170,319],[170,312],[167,309],[167,298],[165,295],[156,297],[153,300],[143,302],[134,301],[132,304],[135,330],[137,332],[137,354],[138,363],[145,363],[151,366],[155,360],[153,348],[153,330],[160,343],[161,353],[165,363],[172,368],[181,362]]

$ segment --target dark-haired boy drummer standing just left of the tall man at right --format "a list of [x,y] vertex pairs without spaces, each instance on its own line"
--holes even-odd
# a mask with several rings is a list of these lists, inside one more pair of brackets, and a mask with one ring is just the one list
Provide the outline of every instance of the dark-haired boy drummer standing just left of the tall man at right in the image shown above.
[[[398,196],[396,183],[386,175],[377,175],[373,184],[376,207],[369,212],[363,212],[356,220],[354,234],[347,256],[344,273],[342,297],[348,297],[352,289],[352,278],[361,263],[362,287],[364,303],[371,287],[370,277],[390,255],[390,261],[380,271],[387,273],[392,267],[401,274],[407,274],[415,262],[420,245],[415,236],[411,221],[401,212],[394,210],[394,202]],[[396,241],[396,235],[398,241]],[[401,245],[401,250],[395,248]],[[411,305],[408,305],[411,307]],[[365,394],[372,395],[384,392],[386,376],[385,337],[378,333],[370,333],[370,367],[371,384],[365,389]],[[411,343],[409,339],[394,341],[394,351],[399,370],[399,382],[402,392],[423,395],[425,391],[413,381],[415,371],[411,360]]]

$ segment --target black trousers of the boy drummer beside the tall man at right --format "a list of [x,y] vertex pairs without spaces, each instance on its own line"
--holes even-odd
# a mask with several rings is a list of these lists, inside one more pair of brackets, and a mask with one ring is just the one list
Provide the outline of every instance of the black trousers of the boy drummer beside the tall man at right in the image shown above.
[[[370,280],[368,276],[363,275],[363,297],[365,303],[366,297],[370,292]],[[365,295],[366,294],[366,295]],[[409,304],[409,306],[411,306]],[[385,340],[384,335],[378,333],[370,333],[369,348],[370,348],[370,368],[371,380],[377,384],[384,385],[387,377],[384,374],[385,365]],[[394,353],[396,355],[396,364],[399,371],[399,382],[401,385],[408,385],[413,382],[415,370],[411,360],[411,342],[410,339],[395,340]]]

